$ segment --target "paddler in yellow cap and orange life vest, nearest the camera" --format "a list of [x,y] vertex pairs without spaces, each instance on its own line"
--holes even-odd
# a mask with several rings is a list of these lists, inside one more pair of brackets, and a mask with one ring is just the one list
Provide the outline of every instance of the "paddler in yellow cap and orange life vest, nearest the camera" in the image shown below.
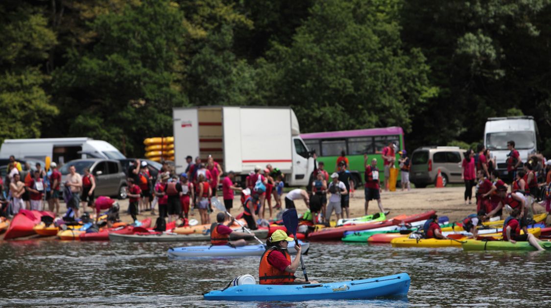
[[294,273],[300,265],[301,247],[295,242],[296,256],[291,262],[291,256],[287,251],[289,241],[287,233],[283,230],[276,230],[272,236],[266,241],[269,246],[262,258],[260,259],[260,267],[258,267],[258,278],[260,284],[317,284],[316,281],[304,281],[296,278]]

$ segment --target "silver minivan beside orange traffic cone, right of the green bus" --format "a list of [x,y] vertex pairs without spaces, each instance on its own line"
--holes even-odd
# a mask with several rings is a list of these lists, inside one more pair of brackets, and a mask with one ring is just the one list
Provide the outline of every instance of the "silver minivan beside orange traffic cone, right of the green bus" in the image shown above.
[[466,151],[457,146],[430,146],[415,149],[411,157],[409,181],[416,188],[435,184],[440,168],[444,186],[448,183],[463,183],[461,163]]

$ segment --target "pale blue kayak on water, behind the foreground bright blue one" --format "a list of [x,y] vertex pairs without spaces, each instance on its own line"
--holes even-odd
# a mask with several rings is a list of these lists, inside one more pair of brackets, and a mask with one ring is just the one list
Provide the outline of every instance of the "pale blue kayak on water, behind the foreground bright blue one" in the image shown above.
[[[302,254],[309,248],[310,243],[299,240],[302,246]],[[296,254],[295,242],[290,241],[288,246],[289,253]],[[264,245],[247,245],[240,247],[231,247],[228,245],[218,246],[184,246],[179,248],[169,248],[169,257],[232,257],[232,256],[262,256],[266,248]]]

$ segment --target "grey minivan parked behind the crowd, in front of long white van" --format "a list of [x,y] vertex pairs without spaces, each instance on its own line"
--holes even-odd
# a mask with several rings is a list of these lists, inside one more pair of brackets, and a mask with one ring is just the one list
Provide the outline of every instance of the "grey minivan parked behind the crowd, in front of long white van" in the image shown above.
[[67,162],[60,168],[63,181],[65,180],[65,175],[69,174],[70,166],[74,166],[80,175],[84,174],[84,168],[90,169],[90,173],[94,175],[96,180],[96,197],[116,196],[118,199],[126,198],[126,174],[123,172],[119,161],[88,158]]

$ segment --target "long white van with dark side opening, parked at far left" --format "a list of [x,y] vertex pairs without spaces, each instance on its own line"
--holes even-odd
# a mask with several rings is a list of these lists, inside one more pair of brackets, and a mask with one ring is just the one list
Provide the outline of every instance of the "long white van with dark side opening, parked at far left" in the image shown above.
[[10,155],[42,161],[50,156],[52,162],[60,164],[79,158],[126,158],[108,142],[92,138],[6,139],[0,149],[0,158],[9,158]]

